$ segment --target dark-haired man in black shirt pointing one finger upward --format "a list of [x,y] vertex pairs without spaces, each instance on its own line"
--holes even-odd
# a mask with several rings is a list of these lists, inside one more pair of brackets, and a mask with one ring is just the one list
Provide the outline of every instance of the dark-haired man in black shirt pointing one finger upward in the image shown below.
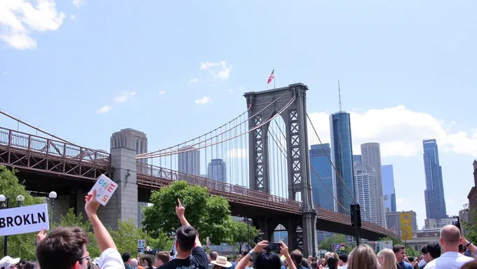
[[[160,269],[207,269],[208,257],[203,250],[197,230],[190,226],[185,219],[185,207],[177,199],[175,214],[179,217],[182,227],[178,228],[175,235],[175,248],[177,256],[172,261],[159,267]],[[192,254],[191,254],[192,253]]]

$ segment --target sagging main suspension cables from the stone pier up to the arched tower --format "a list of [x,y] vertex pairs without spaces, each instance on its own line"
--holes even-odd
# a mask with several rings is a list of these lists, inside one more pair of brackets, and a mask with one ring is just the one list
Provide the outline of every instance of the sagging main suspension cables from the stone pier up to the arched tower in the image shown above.
[[[283,97],[283,95],[285,95],[285,92],[283,92],[278,98],[274,99],[274,101],[270,102],[270,104],[268,104],[267,106],[265,106],[263,109],[261,109],[260,111],[258,111],[257,113],[255,113],[253,116],[250,116],[248,117],[246,120],[243,120],[241,121],[241,123],[238,123],[237,125],[234,125],[233,127],[229,127],[229,129],[225,130],[224,132],[229,132],[231,129],[234,129],[234,128],[237,128],[237,127],[240,127],[241,124],[243,123],[248,123],[248,120],[254,118],[255,116],[259,115],[260,113],[262,113],[262,111],[264,111],[265,109],[267,109],[269,106],[271,106],[272,104],[274,104],[278,99],[280,99],[281,97]],[[198,144],[201,144],[201,143],[206,143],[208,141],[212,141],[213,139],[217,138],[217,137],[220,137],[224,134],[224,132],[220,132],[218,135],[217,135],[217,130],[221,130],[222,127],[226,127],[227,125],[230,125],[230,123],[236,121],[238,118],[241,118],[241,116],[245,115],[245,113],[247,113],[249,110],[250,110],[250,107],[251,105],[248,107],[247,111],[241,113],[241,115],[239,115],[238,117],[234,118],[233,120],[230,120],[228,123],[225,123],[224,125],[220,126],[220,127],[217,127],[215,128],[214,130],[211,130],[210,132],[207,132],[205,135],[200,135],[199,137],[195,137],[193,139],[189,139],[189,141],[187,142],[183,142],[183,143],[180,143],[180,144],[177,144],[175,146],[169,146],[168,148],[166,149],[160,149],[160,150],[157,150],[157,151],[152,151],[152,152],[149,152],[149,153],[141,153],[141,154],[137,154],[137,159],[141,159],[141,158],[144,158],[144,157],[147,157],[147,158],[155,158],[157,157],[157,154],[156,153],[159,153],[160,155],[162,155],[161,153],[164,153],[163,151],[169,151],[169,152],[166,152],[166,153],[179,153],[179,152],[182,152],[179,150],[180,149],[184,149],[184,148],[187,148],[187,147],[192,147],[192,146],[196,146]],[[207,135],[212,135],[213,132],[215,132],[215,136],[214,137],[209,137],[207,139]],[[206,139],[204,139],[202,142],[201,142],[201,138],[202,137],[206,137]],[[187,143],[195,143],[196,140],[199,140],[199,143],[197,144],[192,144],[192,145],[187,145]],[[176,151],[172,151],[174,148],[177,148]],[[150,156],[155,156],[155,157],[150,157]]]

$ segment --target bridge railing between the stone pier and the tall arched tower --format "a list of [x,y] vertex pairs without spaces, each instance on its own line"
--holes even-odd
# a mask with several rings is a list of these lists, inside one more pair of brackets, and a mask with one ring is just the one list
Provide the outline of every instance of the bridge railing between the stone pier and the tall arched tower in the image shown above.
[[206,177],[186,174],[183,172],[178,172],[178,171],[174,171],[174,170],[170,170],[167,168],[158,167],[154,165],[137,163],[137,173],[145,174],[149,177],[168,179],[171,181],[183,180],[189,184],[207,187],[208,189],[217,191],[217,192],[233,193],[235,195],[243,195],[243,196],[248,196],[258,200],[267,200],[269,202],[277,202],[277,203],[291,205],[291,206],[300,208],[300,202],[297,202],[297,201],[288,200],[286,198],[264,193],[262,191],[253,191],[244,186],[233,185],[227,182],[216,181],[213,179],[208,179]]

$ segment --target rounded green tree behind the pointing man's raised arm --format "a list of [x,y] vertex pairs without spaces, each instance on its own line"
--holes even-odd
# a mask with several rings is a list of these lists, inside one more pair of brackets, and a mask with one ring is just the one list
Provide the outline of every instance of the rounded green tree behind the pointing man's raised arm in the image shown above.
[[175,181],[152,193],[150,202],[153,205],[145,207],[142,221],[147,232],[154,237],[161,231],[166,235],[175,233],[180,227],[180,221],[175,216],[177,199],[186,208],[185,216],[199,230],[202,240],[210,237],[213,244],[230,241],[229,202],[210,195],[207,188],[189,185],[185,181]]

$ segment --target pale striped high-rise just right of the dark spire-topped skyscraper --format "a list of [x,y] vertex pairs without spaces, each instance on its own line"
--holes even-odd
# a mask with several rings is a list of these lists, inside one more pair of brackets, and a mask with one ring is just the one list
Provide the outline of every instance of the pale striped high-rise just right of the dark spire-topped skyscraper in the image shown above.
[[375,177],[375,170],[370,165],[354,164],[354,196],[361,206],[361,219],[379,223]]

